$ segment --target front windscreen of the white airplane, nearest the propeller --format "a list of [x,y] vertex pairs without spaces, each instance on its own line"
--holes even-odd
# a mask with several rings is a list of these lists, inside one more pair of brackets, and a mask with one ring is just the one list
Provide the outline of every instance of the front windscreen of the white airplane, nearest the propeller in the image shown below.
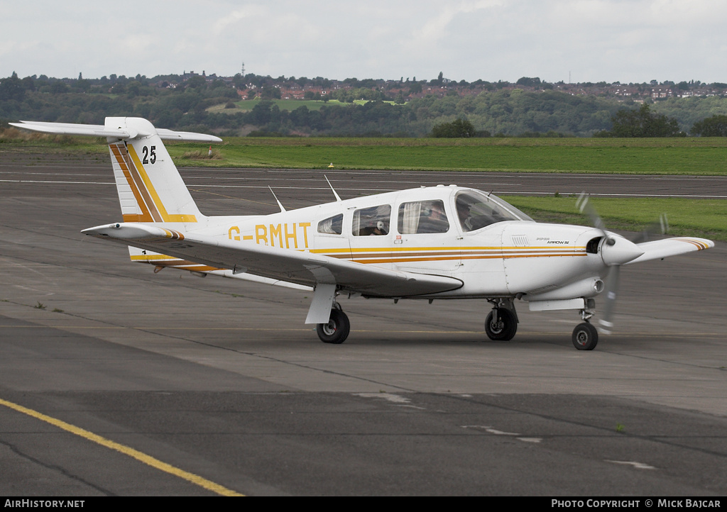
[[503,221],[532,221],[518,208],[505,203],[494,195],[477,190],[459,192],[454,200],[462,231],[474,231]]

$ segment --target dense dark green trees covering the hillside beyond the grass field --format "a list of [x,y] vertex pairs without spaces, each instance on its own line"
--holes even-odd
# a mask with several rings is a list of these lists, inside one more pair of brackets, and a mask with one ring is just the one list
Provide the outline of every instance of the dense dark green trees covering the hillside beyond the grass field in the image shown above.
[[[727,132],[727,99],[723,97],[619,102],[609,97],[560,92],[539,78],[523,77],[518,81],[521,84],[507,84],[510,88],[502,82],[487,83],[491,87],[486,87],[479,81],[482,87],[476,94],[452,89],[441,97],[419,94],[422,81],[404,81],[403,77],[398,88],[390,89],[371,79],[346,79],[343,83],[347,88],[340,89],[330,89],[333,82],[321,77],[278,79],[329,88],[325,100],[319,92],[312,93],[312,97],[309,94],[309,99],[320,98],[316,108],[297,106],[295,100],[275,101],[281,89],[270,77],[182,78],[112,75],[88,80],[79,75],[69,80],[19,78],[13,73],[0,79],[0,119],[96,124],[103,123],[107,116],[132,115],[148,118],[161,128],[212,131],[226,136],[715,137]],[[440,73],[432,82],[432,86],[441,86],[445,79]],[[420,97],[412,98],[411,91],[416,89],[419,93],[414,94]],[[246,97],[257,99],[247,103]],[[353,99],[368,102],[358,105]],[[220,105],[225,108],[220,109]],[[244,105],[254,107],[242,109]]]

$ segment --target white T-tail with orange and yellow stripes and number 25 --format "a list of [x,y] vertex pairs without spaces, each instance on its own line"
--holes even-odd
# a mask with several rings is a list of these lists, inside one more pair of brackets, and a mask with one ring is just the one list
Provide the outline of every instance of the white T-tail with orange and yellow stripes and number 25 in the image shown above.
[[36,121],[11,124],[50,134],[106,137],[124,222],[187,226],[203,218],[162,140],[222,142],[219,137],[156,129],[142,118],[106,118],[103,126]]

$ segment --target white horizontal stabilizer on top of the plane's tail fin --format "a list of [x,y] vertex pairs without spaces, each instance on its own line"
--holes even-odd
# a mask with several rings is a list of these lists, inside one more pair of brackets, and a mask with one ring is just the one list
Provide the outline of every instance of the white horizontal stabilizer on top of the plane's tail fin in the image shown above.
[[[40,131],[45,134],[56,135],[116,137],[117,139],[136,139],[137,137],[148,137],[153,135],[153,133],[140,132],[127,126],[114,127],[104,126],[103,124],[45,123],[41,121],[20,121],[20,123],[10,124],[25,130]],[[214,135],[207,134],[196,134],[190,131],[156,129],[156,134],[164,140],[177,140],[183,142],[222,142],[220,137],[214,137]]]

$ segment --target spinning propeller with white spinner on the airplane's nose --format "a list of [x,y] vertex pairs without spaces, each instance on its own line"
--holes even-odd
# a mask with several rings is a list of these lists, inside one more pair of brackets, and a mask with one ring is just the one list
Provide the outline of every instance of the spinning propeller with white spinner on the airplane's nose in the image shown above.
[[667,222],[667,216],[662,214],[656,222],[646,226],[632,240],[627,240],[624,237],[606,232],[603,219],[595,211],[585,192],[579,196],[576,206],[582,214],[590,217],[591,222],[593,222],[593,227],[600,230],[603,234],[601,259],[603,259],[603,263],[609,269],[608,276],[606,277],[605,293],[603,294],[605,297],[603,301],[603,315],[598,320],[598,330],[603,334],[611,334],[611,330],[614,328],[614,309],[619,290],[619,276],[621,274],[622,264],[641,256],[643,251],[636,244],[646,242],[650,235],[656,233],[663,235],[669,229],[669,223]]

